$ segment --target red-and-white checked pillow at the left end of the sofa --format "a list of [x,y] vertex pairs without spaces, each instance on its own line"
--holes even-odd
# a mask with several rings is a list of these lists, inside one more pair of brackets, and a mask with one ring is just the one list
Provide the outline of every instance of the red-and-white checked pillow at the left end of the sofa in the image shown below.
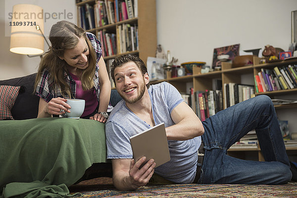
[[13,120],[11,109],[20,87],[0,85],[0,120]]

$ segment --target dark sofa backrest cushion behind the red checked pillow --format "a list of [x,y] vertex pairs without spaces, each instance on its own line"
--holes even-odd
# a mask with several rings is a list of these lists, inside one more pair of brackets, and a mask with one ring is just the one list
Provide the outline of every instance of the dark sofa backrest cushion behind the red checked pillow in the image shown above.
[[35,77],[36,73],[0,81],[0,85],[21,86],[11,109],[12,117],[15,120],[36,118],[38,115],[39,97],[33,94]]

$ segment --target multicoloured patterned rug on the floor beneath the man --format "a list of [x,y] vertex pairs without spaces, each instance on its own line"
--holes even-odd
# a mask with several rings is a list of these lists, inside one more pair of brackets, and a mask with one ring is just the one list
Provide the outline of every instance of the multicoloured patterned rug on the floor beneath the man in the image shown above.
[[150,184],[137,191],[118,191],[111,178],[96,178],[69,187],[83,198],[297,198],[297,182],[286,185]]

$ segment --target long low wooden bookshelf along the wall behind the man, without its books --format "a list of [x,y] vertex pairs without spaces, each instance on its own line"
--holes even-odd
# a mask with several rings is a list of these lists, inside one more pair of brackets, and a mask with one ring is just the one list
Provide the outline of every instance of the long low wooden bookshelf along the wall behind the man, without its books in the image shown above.
[[[256,75],[261,68],[268,68],[273,69],[275,66],[282,67],[287,66],[289,64],[297,64],[297,59],[293,60],[283,60],[271,63],[260,64],[260,58],[253,57],[253,65],[249,66],[242,66],[232,68],[232,64],[228,62],[222,62],[222,70],[221,71],[213,71],[203,74],[193,74],[183,77],[175,77],[171,78],[171,73],[167,72],[167,78],[164,80],[159,81],[152,81],[151,84],[160,83],[166,81],[173,86],[175,86],[179,92],[186,93],[188,90],[186,84],[191,83],[193,84],[194,92],[196,91],[205,91],[205,90],[212,90],[212,80],[213,79],[221,79],[222,85],[224,83],[242,83],[241,75],[250,74],[250,76]],[[254,79],[250,79],[253,82],[251,85],[255,86]],[[224,92],[224,90],[223,90]],[[267,95],[271,99],[275,99],[282,96],[291,96],[293,99],[297,99],[297,88],[294,89],[287,89],[287,90],[278,90],[278,91],[269,91],[269,92],[262,92],[262,93],[255,93],[255,95]],[[224,94],[223,94],[224,96]],[[223,98],[225,100],[225,98]],[[196,106],[192,107],[195,111]],[[226,106],[224,106],[226,108]],[[294,104],[280,104],[275,105],[276,111],[278,113],[278,109],[281,110],[296,110],[297,103]],[[290,129],[291,130],[291,129]],[[296,131],[297,129],[295,129]],[[292,154],[296,156],[296,147],[286,147],[288,154]],[[295,153],[295,154],[294,154]],[[250,155],[254,156],[254,160],[264,161],[264,158],[261,153],[261,149],[259,146],[257,148],[230,148],[228,150],[228,154],[231,156],[239,157],[239,158],[249,158]]]

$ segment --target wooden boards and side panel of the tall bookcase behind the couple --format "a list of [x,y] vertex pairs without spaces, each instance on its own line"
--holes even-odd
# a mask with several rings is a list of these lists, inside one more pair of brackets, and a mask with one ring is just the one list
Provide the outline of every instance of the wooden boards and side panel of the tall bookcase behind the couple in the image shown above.
[[[91,5],[95,4],[97,0],[85,0],[79,3],[76,3],[77,13],[79,12],[78,6],[89,3]],[[78,14],[77,14],[78,16]],[[79,24],[79,17],[77,17],[77,24]],[[139,31],[139,50],[127,51],[125,53],[117,53],[111,56],[103,57],[104,60],[109,60],[114,58],[117,55],[123,54],[136,54],[138,55],[145,63],[147,62],[148,56],[155,56],[155,50],[157,47],[157,30],[156,30],[156,1],[155,0],[138,0],[138,17],[119,21],[113,24],[104,25],[101,27],[96,27],[87,32],[92,32],[97,36],[100,30],[106,30],[116,34],[116,29],[118,25],[127,23],[134,24],[137,23]],[[97,38],[99,39],[99,38]],[[118,41],[117,41],[118,42]]]

